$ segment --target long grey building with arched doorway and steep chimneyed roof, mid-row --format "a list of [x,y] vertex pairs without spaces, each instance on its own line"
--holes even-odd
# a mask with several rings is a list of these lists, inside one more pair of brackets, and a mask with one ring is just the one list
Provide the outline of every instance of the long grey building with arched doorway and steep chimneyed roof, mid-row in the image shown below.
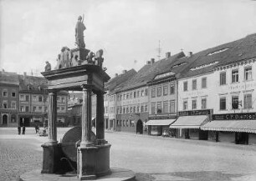
[[[120,131],[143,133],[149,119],[150,95],[148,82],[174,61],[181,58],[184,53],[178,53],[171,57],[171,53],[166,53],[166,58],[155,63],[151,58],[146,65],[141,68],[136,75],[116,88],[117,94],[117,121],[116,127]],[[153,113],[155,114],[155,113]]]

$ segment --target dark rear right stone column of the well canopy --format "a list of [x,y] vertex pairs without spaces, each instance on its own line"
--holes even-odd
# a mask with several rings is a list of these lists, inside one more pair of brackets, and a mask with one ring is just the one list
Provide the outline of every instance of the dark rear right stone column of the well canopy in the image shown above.
[[97,144],[106,143],[104,128],[104,92],[97,93],[96,105],[96,138]]

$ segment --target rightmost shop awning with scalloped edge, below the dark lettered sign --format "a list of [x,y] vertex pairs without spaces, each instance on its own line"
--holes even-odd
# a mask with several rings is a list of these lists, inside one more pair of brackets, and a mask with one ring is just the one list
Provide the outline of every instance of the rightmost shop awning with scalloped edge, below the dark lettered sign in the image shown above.
[[218,120],[206,123],[202,130],[256,133],[256,120]]

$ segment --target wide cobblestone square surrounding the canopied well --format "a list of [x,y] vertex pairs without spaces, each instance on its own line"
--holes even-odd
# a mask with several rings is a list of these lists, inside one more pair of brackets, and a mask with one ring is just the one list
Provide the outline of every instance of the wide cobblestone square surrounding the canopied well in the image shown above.
[[[58,139],[69,128],[58,128]],[[136,180],[256,180],[256,147],[233,143],[152,137],[134,133],[105,133],[110,167],[130,168]],[[41,144],[34,128],[18,135],[16,128],[0,128],[0,180],[42,167]]]

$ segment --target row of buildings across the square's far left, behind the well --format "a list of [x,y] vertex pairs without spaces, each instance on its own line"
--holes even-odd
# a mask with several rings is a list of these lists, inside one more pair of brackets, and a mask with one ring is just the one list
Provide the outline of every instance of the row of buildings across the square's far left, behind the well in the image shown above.
[[[44,126],[48,123],[47,81],[26,73],[0,72],[0,126]],[[68,123],[68,93],[58,93],[59,126]]]

